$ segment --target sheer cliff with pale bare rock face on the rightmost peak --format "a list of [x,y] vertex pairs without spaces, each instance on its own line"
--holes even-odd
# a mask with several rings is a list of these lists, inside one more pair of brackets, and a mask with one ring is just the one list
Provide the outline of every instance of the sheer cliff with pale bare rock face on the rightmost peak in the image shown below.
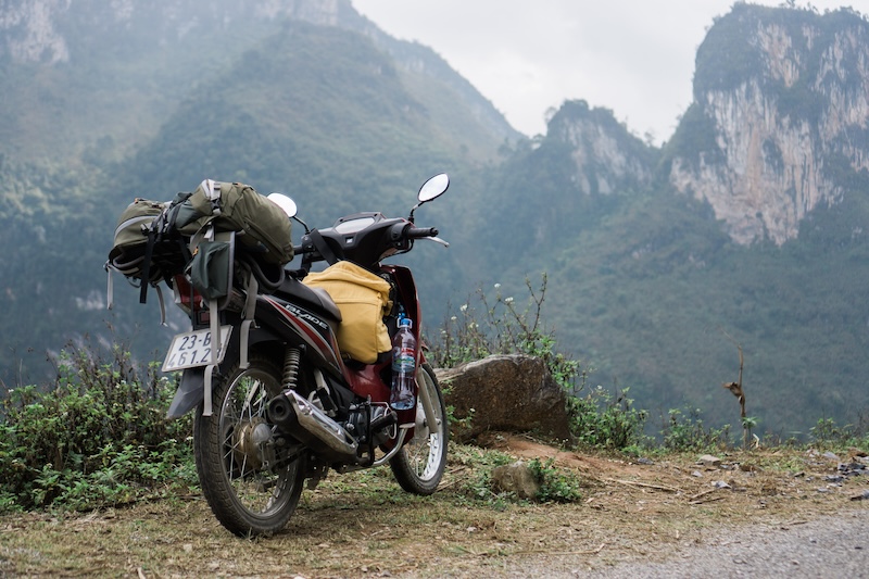
[[735,4],[700,47],[669,179],[741,244],[782,244],[869,171],[869,22]]

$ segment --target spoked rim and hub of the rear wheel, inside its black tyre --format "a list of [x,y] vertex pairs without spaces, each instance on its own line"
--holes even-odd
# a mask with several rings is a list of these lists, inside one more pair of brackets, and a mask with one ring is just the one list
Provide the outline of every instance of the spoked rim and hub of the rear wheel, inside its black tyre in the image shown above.
[[267,518],[292,498],[298,461],[279,462],[265,419],[266,404],[277,391],[274,378],[251,368],[232,381],[221,404],[224,480],[234,501],[252,517]]

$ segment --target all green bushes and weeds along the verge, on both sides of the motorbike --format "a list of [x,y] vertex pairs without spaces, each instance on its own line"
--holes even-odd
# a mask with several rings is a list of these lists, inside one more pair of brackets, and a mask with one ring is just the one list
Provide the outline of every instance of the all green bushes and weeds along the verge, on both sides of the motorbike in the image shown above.
[[[528,298],[503,295],[501,287],[478,290],[429,337],[429,356],[452,367],[491,354],[522,353],[545,361],[568,393],[578,451],[638,458],[678,453],[727,452],[742,446],[729,426],[707,427],[700,410],[670,410],[657,436],[648,412],[633,406],[628,387],[616,392],[591,386],[592,369],[559,353],[543,324],[546,277],[526,280]],[[190,439],[191,418],[164,418],[175,379],[154,364],[138,364],[125,349],[100,351],[70,345],[56,360],[53,383],[5,388],[0,401],[0,513],[90,511],[199,493]],[[745,428],[745,425],[742,425]],[[752,425],[753,426],[753,425]],[[819,418],[806,441],[754,444],[847,453],[869,446],[865,425]],[[515,460],[498,450],[451,449],[451,463],[471,473],[459,491],[465,500],[503,507],[518,499],[492,489],[490,474]],[[743,449],[746,450],[746,449]],[[582,496],[577,473],[553,460],[534,458],[539,502]]]

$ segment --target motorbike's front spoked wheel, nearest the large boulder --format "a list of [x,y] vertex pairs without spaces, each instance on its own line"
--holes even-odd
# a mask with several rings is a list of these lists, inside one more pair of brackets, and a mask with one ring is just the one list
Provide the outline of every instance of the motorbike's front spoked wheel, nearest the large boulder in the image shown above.
[[[389,465],[402,489],[415,494],[431,494],[437,490],[446,467],[446,406],[431,366],[423,364],[416,372],[416,381],[419,385],[419,400],[416,404],[414,438]],[[423,410],[426,398],[433,410],[433,423],[428,421]]]

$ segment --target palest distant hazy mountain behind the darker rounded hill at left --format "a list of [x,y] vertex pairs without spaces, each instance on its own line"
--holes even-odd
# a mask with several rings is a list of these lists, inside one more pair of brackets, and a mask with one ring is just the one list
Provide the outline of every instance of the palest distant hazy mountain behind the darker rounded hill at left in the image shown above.
[[[464,116],[433,112],[433,125],[445,138],[465,138],[481,156],[521,137],[431,49],[389,37],[350,0],[0,0],[0,143],[18,142],[7,151],[0,144],[0,153],[23,160],[79,155],[106,138],[113,147],[103,149],[133,148],[191,86],[264,38],[291,34],[289,21],[367,37],[389,54],[426,110],[444,109],[440,100],[462,103],[453,109]],[[470,137],[468,125],[479,126],[482,138]],[[106,127],[112,129],[103,134]]]

